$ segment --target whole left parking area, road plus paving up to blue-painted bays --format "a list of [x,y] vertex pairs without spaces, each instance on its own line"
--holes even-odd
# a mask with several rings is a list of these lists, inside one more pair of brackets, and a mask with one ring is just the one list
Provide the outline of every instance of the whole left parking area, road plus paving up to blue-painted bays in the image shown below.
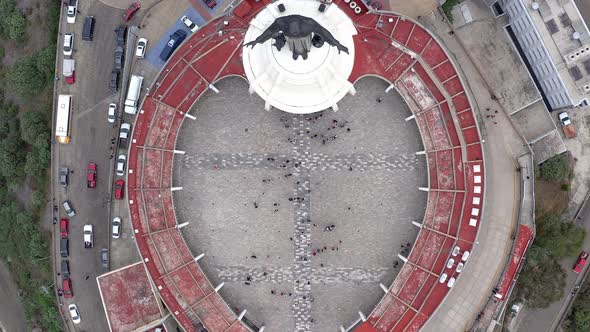
[[[119,90],[111,91],[109,82],[111,71],[114,69],[114,51],[117,46],[115,29],[123,25],[122,16],[127,2],[109,1],[79,1],[76,22],[66,23],[65,9],[62,15],[58,45],[56,68],[56,98],[57,95],[72,96],[72,112],[70,116],[69,144],[54,142],[52,154],[52,192],[53,205],[57,206],[55,217],[66,217],[62,202],[69,200],[76,211],[76,215],[69,218],[69,260],[70,279],[73,298],[59,297],[60,309],[68,330],[78,331],[107,331],[108,324],[102,309],[101,297],[96,284],[96,277],[128,264],[140,260],[129,221],[129,212],[125,200],[113,197],[113,183],[116,179],[125,179],[115,174],[115,163],[118,155],[126,155],[126,149],[119,149],[116,138],[119,125],[129,123],[133,125],[134,115],[123,112],[123,101],[131,74],[144,77],[141,97],[148,92],[152,80],[156,77],[164,64],[158,55],[168,40],[168,36],[177,29],[184,29],[180,17],[188,15],[192,20],[202,25],[213,15],[213,11],[203,4],[189,1],[143,1],[142,8],[136,17],[126,25],[126,52],[124,67],[119,74]],[[221,2],[218,2],[221,3]],[[201,6],[195,9],[196,6]],[[65,8],[65,6],[64,6]],[[149,11],[148,11],[149,9]],[[220,6],[215,8],[219,10]],[[205,13],[205,14],[203,14]],[[95,27],[92,41],[82,40],[84,18],[93,16]],[[152,22],[157,22],[153,24]],[[64,56],[61,46],[63,35],[74,34],[73,54]],[[190,32],[189,32],[190,33]],[[145,59],[135,58],[135,46],[138,38],[148,39]],[[62,76],[64,58],[74,59],[75,83],[66,84]],[[140,98],[141,102],[141,98]],[[107,121],[107,109],[110,103],[118,105],[115,123]],[[88,163],[97,165],[96,188],[87,188],[86,172]],[[58,172],[67,167],[69,185],[63,188],[59,183]],[[54,210],[55,211],[55,210]],[[122,232],[118,239],[111,237],[111,220],[121,217]],[[82,229],[84,225],[93,225],[93,247],[84,248]],[[56,285],[62,287],[60,274],[60,237],[59,223],[54,226],[54,270]],[[100,251],[109,250],[109,268],[103,268]],[[76,303],[81,316],[81,323],[71,323],[67,306]]]

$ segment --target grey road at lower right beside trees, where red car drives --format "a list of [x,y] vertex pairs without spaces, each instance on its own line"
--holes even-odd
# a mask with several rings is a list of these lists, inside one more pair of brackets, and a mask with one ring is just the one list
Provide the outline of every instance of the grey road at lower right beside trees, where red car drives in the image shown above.
[[[582,208],[576,222],[586,230],[587,236],[584,239],[582,248],[584,250],[589,250],[590,236],[588,234],[590,234],[590,204],[586,204]],[[572,267],[574,266],[576,259],[577,257],[573,257],[560,261],[561,267],[566,272],[564,297],[560,301],[552,303],[547,308],[524,308],[519,315],[520,317],[517,318],[517,322],[514,324],[516,330],[544,332],[555,331],[557,329],[557,325],[560,322],[561,317],[567,313],[566,309],[569,302],[574,298],[570,295],[570,293],[574,290],[576,285],[581,283],[584,273],[586,270],[588,270],[588,265],[586,265],[582,273],[577,274],[573,272]]]

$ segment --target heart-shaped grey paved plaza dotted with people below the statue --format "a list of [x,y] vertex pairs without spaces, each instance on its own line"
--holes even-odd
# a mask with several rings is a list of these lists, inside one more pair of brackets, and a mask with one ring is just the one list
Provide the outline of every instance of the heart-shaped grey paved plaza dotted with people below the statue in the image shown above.
[[264,111],[241,79],[216,86],[184,122],[174,163],[178,222],[190,222],[183,236],[206,253],[207,276],[271,331],[333,331],[369,314],[426,204],[401,97],[366,78],[340,111],[294,116]]

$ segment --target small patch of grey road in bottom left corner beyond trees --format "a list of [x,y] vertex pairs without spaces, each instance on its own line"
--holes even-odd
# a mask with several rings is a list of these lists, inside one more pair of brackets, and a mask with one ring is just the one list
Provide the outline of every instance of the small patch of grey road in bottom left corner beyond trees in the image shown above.
[[18,295],[18,286],[3,261],[0,261],[0,298],[0,331],[26,331],[25,310]]

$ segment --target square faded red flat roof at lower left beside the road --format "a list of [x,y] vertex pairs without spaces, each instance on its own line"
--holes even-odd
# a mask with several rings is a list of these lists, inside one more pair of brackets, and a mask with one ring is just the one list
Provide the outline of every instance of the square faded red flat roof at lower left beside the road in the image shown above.
[[134,331],[163,317],[142,262],[105,273],[96,281],[111,331]]

